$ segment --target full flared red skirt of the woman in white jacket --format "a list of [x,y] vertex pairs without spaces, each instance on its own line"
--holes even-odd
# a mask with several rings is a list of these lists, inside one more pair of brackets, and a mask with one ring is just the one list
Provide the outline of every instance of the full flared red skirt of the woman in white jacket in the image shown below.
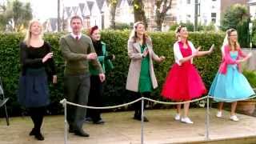
[[198,74],[198,70],[190,62],[177,63],[169,71],[166,82],[162,86],[162,96],[174,101],[188,101],[206,94],[207,90]]

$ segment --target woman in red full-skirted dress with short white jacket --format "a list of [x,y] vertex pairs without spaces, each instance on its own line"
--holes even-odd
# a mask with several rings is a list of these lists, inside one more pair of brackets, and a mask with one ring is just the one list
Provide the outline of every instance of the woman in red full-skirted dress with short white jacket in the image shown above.
[[[188,31],[185,26],[178,26],[176,30],[178,41],[174,43],[175,63],[166,77],[166,82],[162,88],[162,96],[176,102],[189,101],[199,98],[206,94],[206,87],[198,70],[193,65],[193,58],[210,54],[214,48],[211,46],[208,51],[196,50],[192,42],[188,41]],[[177,105],[177,114],[175,120],[192,124],[187,117],[190,108],[190,102],[184,104],[184,114],[181,117],[181,104]]]

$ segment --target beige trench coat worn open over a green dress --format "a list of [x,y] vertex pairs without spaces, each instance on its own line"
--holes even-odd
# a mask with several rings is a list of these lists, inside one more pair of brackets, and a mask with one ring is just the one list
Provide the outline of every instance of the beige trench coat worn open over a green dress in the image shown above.
[[[147,39],[146,46],[150,54],[150,78],[152,87],[155,89],[158,87],[158,82],[154,74],[153,60],[156,61],[159,57],[157,54],[154,54],[152,41],[150,38]],[[138,82],[142,64],[141,47],[138,42],[134,42],[134,39],[129,39],[127,49],[128,56],[131,61],[126,81],[126,90],[138,92]]]

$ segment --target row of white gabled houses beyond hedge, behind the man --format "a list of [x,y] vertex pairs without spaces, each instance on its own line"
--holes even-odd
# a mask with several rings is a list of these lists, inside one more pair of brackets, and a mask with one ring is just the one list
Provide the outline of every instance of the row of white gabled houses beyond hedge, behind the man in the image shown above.
[[[83,28],[89,29],[91,26],[97,25],[100,29],[110,26],[110,9],[106,0],[84,0],[78,3],[72,3],[72,6],[62,6],[62,30],[71,31],[70,18],[78,15],[83,20]],[[46,21],[46,31],[53,30],[57,23],[53,24],[53,18]]]

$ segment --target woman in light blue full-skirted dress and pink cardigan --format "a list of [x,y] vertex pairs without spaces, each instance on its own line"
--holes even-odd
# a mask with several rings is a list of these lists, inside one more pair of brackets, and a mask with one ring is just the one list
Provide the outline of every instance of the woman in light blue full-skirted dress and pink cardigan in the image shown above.
[[210,86],[209,95],[219,102],[218,118],[222,117],[223,102],[232,102],[230,120],[239,121],[235,115],[238,99],[246,99],[255,94],[249,82],[242,74],[241,62],[245,62],[252,54],[244,54],[238,44],[238,33],[234,29],[226,31],[222,45],[222,63],[214,82]]

